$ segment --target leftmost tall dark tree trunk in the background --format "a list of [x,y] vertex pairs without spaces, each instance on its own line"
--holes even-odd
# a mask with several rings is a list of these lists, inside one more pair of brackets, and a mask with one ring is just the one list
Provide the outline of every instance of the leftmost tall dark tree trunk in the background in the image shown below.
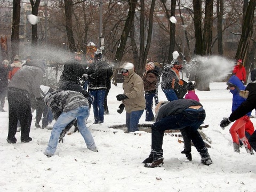
[[12,58],[13,61],[15,55],[19,54],[20,51],[20,0],[13,0],[13,17],[12,17]]

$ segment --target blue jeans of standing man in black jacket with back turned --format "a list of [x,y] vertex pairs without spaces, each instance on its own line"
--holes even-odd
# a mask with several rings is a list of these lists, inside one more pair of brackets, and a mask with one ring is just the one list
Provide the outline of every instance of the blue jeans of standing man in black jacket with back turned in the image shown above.
[[104,97],[106,90],[90,90],[92,98],[92,107],[94,114],[94,123],[104,122]]

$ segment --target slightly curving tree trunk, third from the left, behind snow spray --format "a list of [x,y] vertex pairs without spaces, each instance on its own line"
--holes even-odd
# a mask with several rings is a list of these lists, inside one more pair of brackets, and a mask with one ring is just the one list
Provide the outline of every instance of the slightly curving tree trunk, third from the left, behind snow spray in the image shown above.
[[66,17],[66,30],[68,36],[68,47],[71,52],[75,52],[76,45],[72,30],[72,0],[64,0],[65,2],[65,17]]

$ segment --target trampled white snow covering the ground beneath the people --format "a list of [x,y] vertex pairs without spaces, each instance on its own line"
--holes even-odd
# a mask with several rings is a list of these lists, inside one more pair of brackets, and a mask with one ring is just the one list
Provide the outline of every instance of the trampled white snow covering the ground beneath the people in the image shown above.
[[[230,126],[224,131],[219,126],[222,117],[228,117],[231,111],[232,94],[226,87],[226,83],[212,82],[210,91],[196,91],[206,110],[205,123],[210,125],[203,129],[212,141],[210,166],[201,163],[195,147],[191,152],[193,160],[188,161],[180,153],[180,138],[165,135],[164,165],[145,168],[142,161],[150,153],[151,134],[114,134],[113,129],[108,129],[125,124],[125,111],[116,112],[120,102],[115,96],[123,93],[122,84],[112,85],[108,96],[110,115],[105,116],[105,123],[91,125],[93,113],[89,117],[90,129],[108,130],[92,131],[98,153],[88,150],[82,136],[72,128],[55,155],[47,158],[43,151],[51,130],[36,129],[34,118],[30,131],[33,141],[21,143],[17,133],[17,143],[9,144],[8,113],[0,113],[1,191],[256,191],[255,155],[247,154],[244,148],[240,154],[233,152]],[[161,89],[159,100],[166,100]],[[255,118],[252,122],[256,125]],[[146,123],[145,113],[140,123]]]

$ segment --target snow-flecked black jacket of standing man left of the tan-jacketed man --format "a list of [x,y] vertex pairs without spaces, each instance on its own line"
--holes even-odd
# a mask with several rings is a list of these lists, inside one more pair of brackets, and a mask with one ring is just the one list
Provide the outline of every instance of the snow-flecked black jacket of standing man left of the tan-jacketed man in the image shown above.
[[106,61],[94,60],[87,70],[89,77],[88,90],[107,89],[106,82],[107,80],[109,81],[109,77],[112,76],[110,73],[113,75],[113,71],[109,68]]

